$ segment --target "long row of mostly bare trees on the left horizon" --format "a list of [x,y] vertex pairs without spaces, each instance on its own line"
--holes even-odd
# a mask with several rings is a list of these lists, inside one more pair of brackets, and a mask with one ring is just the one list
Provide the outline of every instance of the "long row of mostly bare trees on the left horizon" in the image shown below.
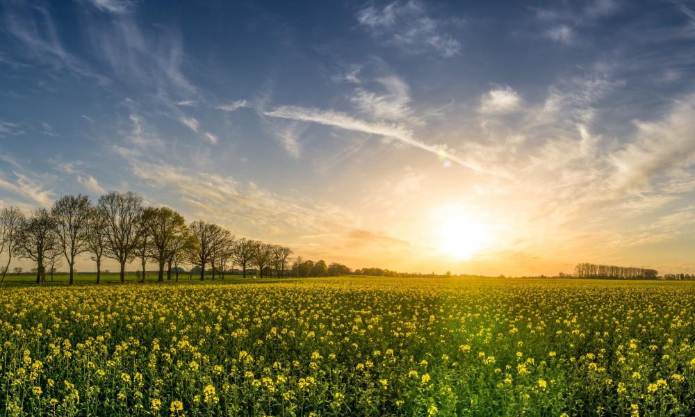
[[[244,277],[247,270],[256,268],[261,277],[275,273],[281,278],[293,251],[260,240],[235,238],[224,227],[204,220],[187,225],[171,208],[145,206],[142,197],[133,192],[112,192],[101,195],[95,203],[85,195],[65,195],[50,209],[38,208],[28,217],[17,207],[1,208],[1,253],[7,259],[0,266],[0,285],[10,263],[19,258],[35,262],[37,284],[45,281],[47,267],[52,273],[63,258],[69,282],[74,284],[74,264],[81,254],[89,254],[95,262],[97,284],[101,262],[106,258],[119,263],[121,282],[125,281],[126,263],[136,260],[142,267],[141,281],[145,281],[146,265],[152,261],[158,265],[158,281],[164,280],[165,271],[171,279],[172,270],[178,280],[181,264],[197,265],[201,280],[208,266],[215,279],[215,274],[224,278],[230,265],[239,265]],[[329,268],[324,261],[319,263],[319,272],[325,269],[327,275]],[[309,274],[316,275],[316,265],[311,265]],[[21,270],[15,268],[17,271]]]

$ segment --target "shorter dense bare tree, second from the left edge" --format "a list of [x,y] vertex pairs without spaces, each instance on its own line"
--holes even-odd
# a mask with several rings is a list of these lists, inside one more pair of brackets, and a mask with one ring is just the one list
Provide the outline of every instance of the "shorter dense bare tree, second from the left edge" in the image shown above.
[[53,216],[45,208],[38,208],[31,218],[24,222],[19,238],[19,251],[22,257],[36,263],[36,284],[41,283],[47,254],[57,245],[56,224]]

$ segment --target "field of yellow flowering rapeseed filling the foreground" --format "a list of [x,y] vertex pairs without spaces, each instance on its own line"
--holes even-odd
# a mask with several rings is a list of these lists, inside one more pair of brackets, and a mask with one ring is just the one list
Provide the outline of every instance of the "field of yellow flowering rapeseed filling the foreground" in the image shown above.
[[673,281],[15,282],[0,411],[682,416],[694,316]]

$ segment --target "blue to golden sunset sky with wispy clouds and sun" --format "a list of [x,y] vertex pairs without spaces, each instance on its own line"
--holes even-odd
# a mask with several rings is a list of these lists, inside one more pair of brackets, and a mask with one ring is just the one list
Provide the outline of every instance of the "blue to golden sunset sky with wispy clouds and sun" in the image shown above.
[[685,1],[0,0],[0,206],[133,190],[351,268],[693,272],[694,47]]

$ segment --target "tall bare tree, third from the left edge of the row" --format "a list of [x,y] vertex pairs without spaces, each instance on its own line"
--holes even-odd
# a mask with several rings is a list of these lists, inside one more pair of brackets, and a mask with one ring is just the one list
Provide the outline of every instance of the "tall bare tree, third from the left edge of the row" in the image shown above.
[[56,236],[70,269],[69,283],[74,284],[75,256],[87,248],[87,226],[91,204],[86,195],[65,195],[56,200],[51,215],[56,223]]

